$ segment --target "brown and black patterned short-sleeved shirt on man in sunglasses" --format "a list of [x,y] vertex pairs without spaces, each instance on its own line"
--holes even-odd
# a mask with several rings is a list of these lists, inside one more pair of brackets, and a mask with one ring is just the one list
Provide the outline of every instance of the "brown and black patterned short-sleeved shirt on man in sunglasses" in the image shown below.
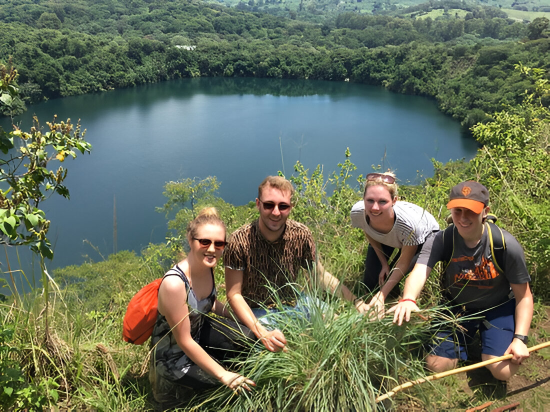
[[223,261],[226,267],[243,271],[241,293],[250,307],[272,304],[274,290],[281,301],[291,302],[296,294],[288,283],[296,282],[302,268],[313,268],[315,243],[310,229],[291,219],[281,237],[271,243],[256,220],[233,232]]

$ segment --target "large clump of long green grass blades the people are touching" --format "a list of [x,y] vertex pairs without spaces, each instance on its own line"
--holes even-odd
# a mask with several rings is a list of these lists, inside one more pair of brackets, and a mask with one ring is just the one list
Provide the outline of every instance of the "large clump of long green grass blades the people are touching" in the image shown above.
[[[304,293],[322,295],[312,288]],[[294,311],[277,315],[277,326],[287,338],[287,352],[272,353],[256,343],[239,362],[239,372],[257,383],[252,394],[236,397],[220,388],[202,407],[369,411],[377,409],[379,393],[401,381],[401,376],[425,375],[416,355],[426,323],[397,327],[390,318],[370,321],[332,296],[311,300],[315,303],[309,307],[309,321]]]

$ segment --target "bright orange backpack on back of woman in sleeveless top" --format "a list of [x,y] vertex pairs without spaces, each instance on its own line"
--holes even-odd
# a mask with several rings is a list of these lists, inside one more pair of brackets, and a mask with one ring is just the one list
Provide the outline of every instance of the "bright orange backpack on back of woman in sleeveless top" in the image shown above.
[[[168,271],[164,277],[178,274],[187,285],[183,271],[178,266],[175,268],[175,271]],[[153,334],[158,314],[158,288],[164,277],[145,285],[131,298],[122,324],[122,338],[126,342],[141,345]]]

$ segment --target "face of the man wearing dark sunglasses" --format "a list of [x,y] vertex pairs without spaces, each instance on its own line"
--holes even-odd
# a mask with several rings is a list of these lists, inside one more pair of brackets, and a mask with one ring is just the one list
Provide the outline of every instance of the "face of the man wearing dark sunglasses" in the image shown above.
[[292,210],[291,198],[290,191],[282,191],[272,186],[263,188],[260,198],[256,198],[256,207],[260,211],[260,232],[267,240],[277,240],[283,233]]

